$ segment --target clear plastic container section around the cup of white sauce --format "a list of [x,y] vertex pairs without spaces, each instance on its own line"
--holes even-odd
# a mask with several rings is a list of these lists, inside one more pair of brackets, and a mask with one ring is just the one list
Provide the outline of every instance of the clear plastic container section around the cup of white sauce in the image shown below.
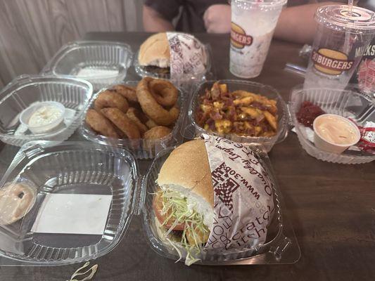
[[[81,124],[92,96],[89,82],[70,77],[20,76],[0,91],[0,139],[21,146],[28,141],[65,141]],[[39,102],[64,105],[64,120],[45,133],[32,133],[21,124],[21,112]]]

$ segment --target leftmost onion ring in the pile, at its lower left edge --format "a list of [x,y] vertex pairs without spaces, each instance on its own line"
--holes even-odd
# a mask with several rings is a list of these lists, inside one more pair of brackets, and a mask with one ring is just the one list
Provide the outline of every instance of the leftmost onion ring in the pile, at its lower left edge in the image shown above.
[[87,110],[86,123],[97,133],[110,138],[118,138],[115,127],[106,117],[96,112],[96,110]]

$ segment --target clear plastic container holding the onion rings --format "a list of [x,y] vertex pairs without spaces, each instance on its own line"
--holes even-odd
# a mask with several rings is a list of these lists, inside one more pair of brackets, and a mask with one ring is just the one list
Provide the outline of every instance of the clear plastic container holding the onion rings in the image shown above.
[[[136,86],[137,83],[137,81],[127,81],[124,85]],[[115,86],[115,84],[112,86]],[[98,91],[98,93],[94,95],[94,98],[92,98],[89,108],[94,107],[94,101],[101,92],[106,91],[106,89],[110,88],[111,86]],[[85,120],[82,121],[80,131],[82,133],[82,136],[84,136],[84,138],[89,141],[94,141],[95,143],[106,145],[113,145],[120,148],[127,148],[128,150],[133,152],[134,156],[137,159],[152,159],[153,157],[155,157],[155,155],[158,154],[158,152],[160,152],[164,148],[168,148],[182,142],[180,129],[184,119],[184,113],[186,112],[186,102],[184,101],[184,96],[181,90],[179,90],[179,98],[177,100],[177,103],[179,104],[179,118],[174,124],[172,132],[164,138],[159,138],[156,140],[146,140],[144,138],[133,140],[129,138],[109,138],[106,136],[101,136],[93,131],[85,122]]]

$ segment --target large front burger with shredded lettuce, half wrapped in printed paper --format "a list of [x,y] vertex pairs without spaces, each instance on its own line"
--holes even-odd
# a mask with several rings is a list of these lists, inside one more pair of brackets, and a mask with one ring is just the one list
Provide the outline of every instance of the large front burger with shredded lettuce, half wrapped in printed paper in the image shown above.
[[203,135],[171,152],[157,183],[158,235],[186,265],[208,251],[229,253],[265,242],[274,183],[251,148]]

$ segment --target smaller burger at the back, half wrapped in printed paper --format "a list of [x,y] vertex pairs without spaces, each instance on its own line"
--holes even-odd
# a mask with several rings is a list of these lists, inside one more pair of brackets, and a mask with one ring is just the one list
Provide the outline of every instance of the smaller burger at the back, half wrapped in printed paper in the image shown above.
[[205,46],[191,34],[163,32],[153,34],[141,45],[139,65],[158,77],[192,79],[207,67]]

